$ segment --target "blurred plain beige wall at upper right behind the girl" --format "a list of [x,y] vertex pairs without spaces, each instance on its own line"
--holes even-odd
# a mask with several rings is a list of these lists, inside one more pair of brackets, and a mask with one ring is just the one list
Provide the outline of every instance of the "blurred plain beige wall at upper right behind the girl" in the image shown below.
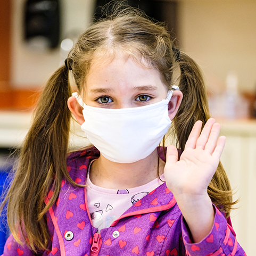
[[256,1],[180,1],[181,48],[200,64],[208,86],[219,92],[229,71],[243,91],[256,90]]

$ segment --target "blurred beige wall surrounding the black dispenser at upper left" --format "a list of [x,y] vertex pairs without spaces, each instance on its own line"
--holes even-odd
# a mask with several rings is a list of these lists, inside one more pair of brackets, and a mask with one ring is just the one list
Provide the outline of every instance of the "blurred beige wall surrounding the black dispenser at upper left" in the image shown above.
[[[13,0],[11,84],[14,88],[35,88],[45,84],[60,65],[59,49],[35,51],[23,40],[25,0]],[[83,31],[93,15],[94,0],[61,0],[62,39],[71,31]]]

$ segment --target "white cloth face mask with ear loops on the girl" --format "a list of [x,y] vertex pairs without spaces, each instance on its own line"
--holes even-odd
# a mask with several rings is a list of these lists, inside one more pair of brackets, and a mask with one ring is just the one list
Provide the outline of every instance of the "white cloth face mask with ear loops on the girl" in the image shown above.
[[[172,88],[179,90],[178,86]],[[133,163],[150,155],[167,133],[171,125],[168,103],[173,89],[165,100],[127,109],[95,108],[82,102],[77,93],[72,95],[84,108],[81,129],[89,142],[110,161]]]

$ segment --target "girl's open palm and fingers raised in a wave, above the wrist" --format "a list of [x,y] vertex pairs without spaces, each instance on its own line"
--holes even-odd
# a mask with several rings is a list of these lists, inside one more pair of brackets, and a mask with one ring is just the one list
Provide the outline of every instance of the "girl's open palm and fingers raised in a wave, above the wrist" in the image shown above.
[[202,121],[197,121],[178,161],[175,146],[168,146],[164,177],[167,187],[176,196],[202,196],[218,167],[226,138],[219,139],[220,125],[210,118],[201,134]]

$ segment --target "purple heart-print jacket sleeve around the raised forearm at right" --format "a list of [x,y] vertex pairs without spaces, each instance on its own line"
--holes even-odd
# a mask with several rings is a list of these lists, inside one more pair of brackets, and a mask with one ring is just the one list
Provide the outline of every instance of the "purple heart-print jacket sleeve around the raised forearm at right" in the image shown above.
[[[181,223],[183,242],[188,256],[246,256],[236,240],[236,234],[223,216],[214,206],[215,217],[211,232],[199,243],[191,243],[189,230],[183,218]],[[230,222],[231,224],[231,222]]]

